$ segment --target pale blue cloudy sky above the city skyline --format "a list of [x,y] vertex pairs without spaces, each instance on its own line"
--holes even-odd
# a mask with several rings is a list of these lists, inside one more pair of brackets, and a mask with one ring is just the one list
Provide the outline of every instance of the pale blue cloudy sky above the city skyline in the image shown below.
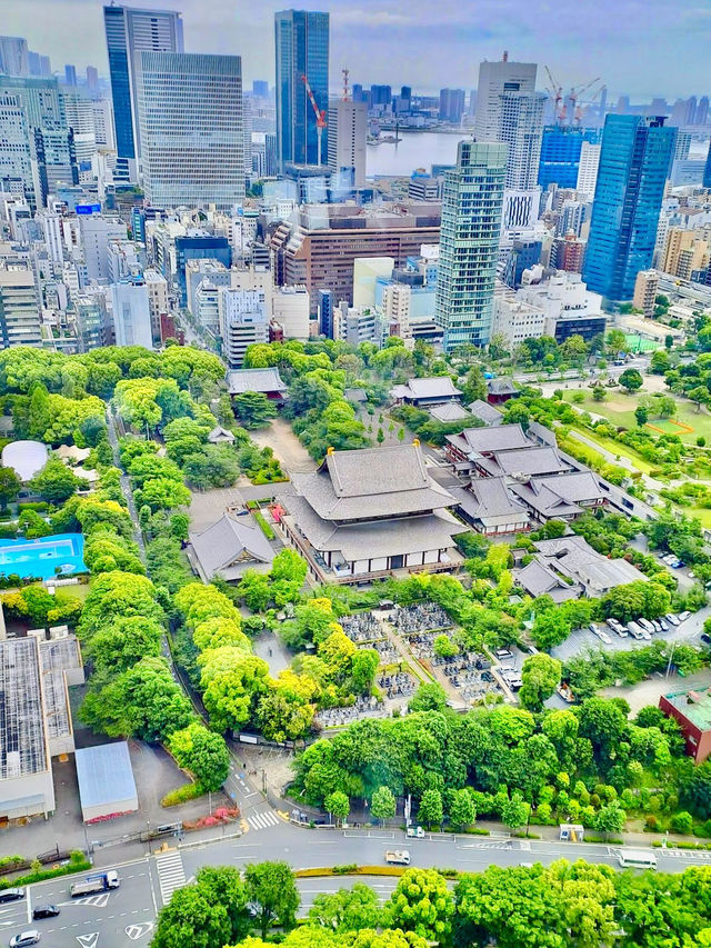
[[[128,6],[183,14],[188,52],[237,53],[247,83],[273,83],[274,0],[136,0]],[[331,87],[348,66],[351,82],[412,86],[415,92],[477,84],[482,59],[547,64],[565,89],[600,77],[608,101],[629,94],[711,92],[711,0],[329,0],[300,4],[331,14]],[[101,3],[97,0],[0,0],[0,30],[27,37],[66,62],[107,73]],[[545,77],[539,70],[538,86]],[[597,83],[599,84],[599,83]]]

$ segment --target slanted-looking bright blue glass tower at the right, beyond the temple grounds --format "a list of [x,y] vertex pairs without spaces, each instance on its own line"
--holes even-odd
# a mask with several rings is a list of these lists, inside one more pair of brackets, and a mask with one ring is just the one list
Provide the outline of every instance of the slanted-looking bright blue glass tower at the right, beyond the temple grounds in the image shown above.
[[583,278],[609,299],[632,299],[652,263],[675,134],[661,117],[607,118]]

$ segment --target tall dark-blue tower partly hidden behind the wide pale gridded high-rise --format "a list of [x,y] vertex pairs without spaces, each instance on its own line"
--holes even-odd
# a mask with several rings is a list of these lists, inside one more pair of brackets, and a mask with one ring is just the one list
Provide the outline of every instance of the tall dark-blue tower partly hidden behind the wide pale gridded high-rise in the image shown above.
[[136,180],[139,156],[136,53],[182,52],[182,20],[174,10],[103,8],[117,142],[117,178]]

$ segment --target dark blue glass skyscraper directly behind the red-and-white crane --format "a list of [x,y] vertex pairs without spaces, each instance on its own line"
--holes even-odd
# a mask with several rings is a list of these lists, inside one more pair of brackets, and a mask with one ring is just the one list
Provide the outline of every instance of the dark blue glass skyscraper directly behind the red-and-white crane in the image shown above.
[[[317,117],[307,94],[309,82],[319,111],[329,108],[329,14],[282,10],[274,14],[277,54],[277,150],[284,164],[318,164]],[[328,142],[321,142],[326,161]]]

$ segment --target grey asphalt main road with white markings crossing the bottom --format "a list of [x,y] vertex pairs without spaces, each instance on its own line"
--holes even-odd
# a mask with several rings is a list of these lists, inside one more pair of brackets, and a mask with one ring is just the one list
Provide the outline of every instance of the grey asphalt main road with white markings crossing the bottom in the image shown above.
[[[433,835],[425,839],[407,839],[400,830],[314,829],[309,830],[280,821],[250,829],[241,837],[218,839],[203,845],[186,845],[154,856],[117,865],[121,887],[81,899],[71,899],[71,878],[51,879],[27,887],[21,901],[0,905],[0,937],[28,928],[37,928],[52,948],[123,948],[136,941],[147,946],[156,925],[158,910],[172,892],[194,879],[202,866],[243,867],[266,859],[284,859],[294,869],[323,868],[357,864],[382,866],[385,849],[410,851],[411,865],[479,872],[488,866],[520,866],[532,862],[548,865],[555,859],[585,859],[617,866],[617,847],[594,844],[565,844],[504,837]],[[652,851],[652,850],[650,850]],[[680,872],[689,866],[710,865],[711,852],[657,849],[659,869]],[[359,877],[372,885],[381,899],[388,897],[397,878]],[[351,886],[348,876],[323,879],[299,879],[302,912],[316,895]],[[32,921],[32,909],[54,904],[57,918]]]

